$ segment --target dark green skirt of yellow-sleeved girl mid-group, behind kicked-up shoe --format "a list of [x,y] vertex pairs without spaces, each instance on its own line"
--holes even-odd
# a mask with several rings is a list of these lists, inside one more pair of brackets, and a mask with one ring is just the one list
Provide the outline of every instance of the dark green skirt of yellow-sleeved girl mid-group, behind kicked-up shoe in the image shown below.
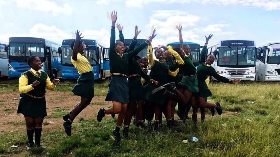
[[149,83],[146,86],[144,86],[145,99],[148,102],[155,102],[159,105],[162,105],[164,103],[166,94],[163,93],[163,92],[157,92],[155,94],[152,94],[152,91],[155,88],[157,88],[159,86],[162,86],[162,85],[163,84],[156,85],[156,84],[153,84],[153,83]]

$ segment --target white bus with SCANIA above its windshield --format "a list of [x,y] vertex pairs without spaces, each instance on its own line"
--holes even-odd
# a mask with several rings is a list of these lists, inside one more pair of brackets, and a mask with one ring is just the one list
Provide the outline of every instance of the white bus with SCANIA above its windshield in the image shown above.
[[[255,80],[256,47],[252,40],[221,40],[207,48],[215,56],[211,65],[228,79]],[[215,80],[215,78],[212,78]]]

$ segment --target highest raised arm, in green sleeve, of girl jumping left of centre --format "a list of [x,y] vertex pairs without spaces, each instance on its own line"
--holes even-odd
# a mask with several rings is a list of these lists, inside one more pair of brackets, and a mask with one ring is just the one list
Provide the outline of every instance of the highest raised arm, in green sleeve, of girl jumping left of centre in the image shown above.
[[115,32],[115,26],[117,21],[117,12],[112,11],[111,13],[111,20],[112,20],[112,26],[111,26],[111,37],[110,37],[110,48],[109,48],[109,58],[112,59],[113,55],[115,55],[115,42],[116,42],[116,32]]

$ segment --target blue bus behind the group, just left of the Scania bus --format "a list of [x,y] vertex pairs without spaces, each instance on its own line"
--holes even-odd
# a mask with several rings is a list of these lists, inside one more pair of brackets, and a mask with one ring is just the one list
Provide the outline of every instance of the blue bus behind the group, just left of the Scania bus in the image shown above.
[[[189,47],[191,48],[190,56],[193,59],[195,67],[198,67],[200,59],[200,44],[193,42],[183,42],[183,45],[185,44],[189,45]],[[167,46],[169,45],[172,47],[180,47],[180,42],[168,43]]]

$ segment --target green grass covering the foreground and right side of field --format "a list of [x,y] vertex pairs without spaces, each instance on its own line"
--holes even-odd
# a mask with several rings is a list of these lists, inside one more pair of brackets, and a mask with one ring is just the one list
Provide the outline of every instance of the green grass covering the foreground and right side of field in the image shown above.
[[[68,86],[72,86],[70,82],[68,83]],[[106,90],[107,85],[107,83],[95,83],[95,89]],[[52,131],[43,131],[41,143],[48,148],[34,150],[28,155],[38,154],[36,156],[47,157],[280,156],[279,87],[279,82],[210,83],[209,88],[213,94],[208,98],[210,102],[220,102],[223,111],[239,112],[238,116],[217,116],[216,113],[214,117],[206,118],[204,124],[198,121],[197,126],[193,126],[192,121],[187,120],[173,130],[167,130],[164,121],[163,130],[160,132],[137,131],[131,124],[129,137],[123,137],[120,142],[110,138],[116,123],[110,115],[107,115],[101,123],[96,119],[81,117],[73,123],[71,137],[65,135],[62,125]],[[102,93],[101,91],[100,94]],[[99,105],[99,102],[92,105]],[[67,113],[59,111],[48,117],[61,117],[64,114]],[[227,125],[222,126],[224,123]],[[191,136],[199,137],[200,142],[191,142]],[[185,139],[189,141],[187,144],[182,143]],[[0,143],[2,144],[0,153],[3,151],[2,153],[7,155],[18,154],[24,151],[22,149],[27,144],[27,136],[25,132],[4,131],[0,133]],[[9,148],[15,144],[19,145],[20,149]],[[211,155],[211,153],[215,154]]]

